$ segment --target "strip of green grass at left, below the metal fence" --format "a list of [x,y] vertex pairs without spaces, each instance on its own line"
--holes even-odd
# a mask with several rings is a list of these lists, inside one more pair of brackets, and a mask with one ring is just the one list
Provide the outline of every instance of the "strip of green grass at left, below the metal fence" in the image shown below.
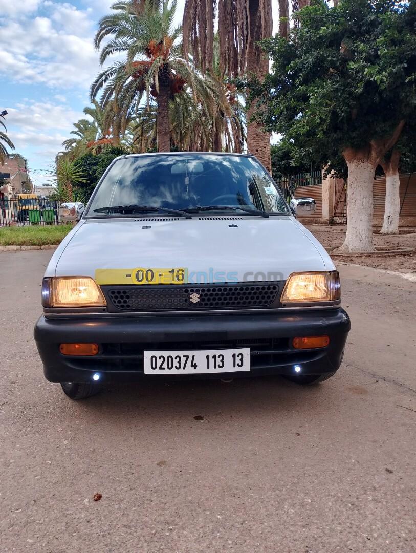
[[0,228],[0,246],[49,246],[59,244],[73,225],[30,225]]

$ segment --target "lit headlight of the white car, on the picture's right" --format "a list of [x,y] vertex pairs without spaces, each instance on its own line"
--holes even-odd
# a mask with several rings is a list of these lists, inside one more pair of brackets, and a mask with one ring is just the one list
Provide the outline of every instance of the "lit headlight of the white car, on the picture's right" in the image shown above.
[[282,304],[335,301],[341,298],[338,271],[331,273],[292,273],[283,290]]

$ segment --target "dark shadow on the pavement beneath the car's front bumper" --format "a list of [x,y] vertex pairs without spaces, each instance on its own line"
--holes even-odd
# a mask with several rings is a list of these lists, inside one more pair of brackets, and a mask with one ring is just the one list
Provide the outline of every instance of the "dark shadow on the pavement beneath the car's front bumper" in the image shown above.
[[67,407],[72,406],[77,414],[82,412],[83,418],[99,415],[101,421],[109,424],[120,421],[124,415],[128,415],[130,421],[144,418],[148,423],[161,418],[179,422],[191,416],[203,416],[204,420],[284,416],[293,411],[322,416],[325,408],[333,410],[342,398],[337,381],[339,384],[339,379],[334,377],[330,382],[312,387],[302,387],[281,377],[239,378],[231,383],[196,380],[114,384],[88,400],[67,400]]

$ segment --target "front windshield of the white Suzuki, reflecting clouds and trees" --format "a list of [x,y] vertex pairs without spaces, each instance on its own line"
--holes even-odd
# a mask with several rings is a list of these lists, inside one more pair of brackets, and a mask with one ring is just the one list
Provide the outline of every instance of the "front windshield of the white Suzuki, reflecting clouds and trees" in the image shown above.
[[[115,161],[86,215],[114,214],[111,206],[173,210],[227,206],[288,214],[277,186],[255,159],[239,155],[143,155]],[[103,208],[109,208],[107,211]],[[94,210],[101,210],[94,213]],[[126,212],[126,211],[125,211]],[[160,211],[162,212],[162,211]],[[240,213],[239,213],[240,215]]]

